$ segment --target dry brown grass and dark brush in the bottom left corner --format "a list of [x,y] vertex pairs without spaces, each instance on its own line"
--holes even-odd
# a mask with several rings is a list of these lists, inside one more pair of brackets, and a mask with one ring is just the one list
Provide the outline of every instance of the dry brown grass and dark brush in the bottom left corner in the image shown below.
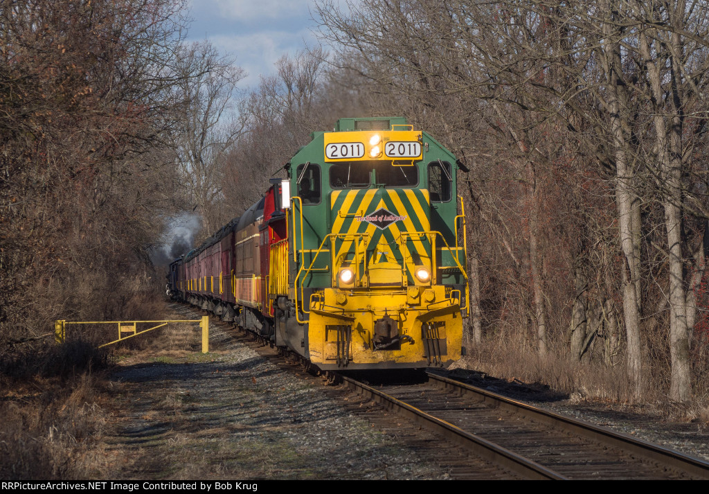
[[106,476],[95,454],[106,424],[98,400],[106,354],[90,350],[70,344],[3,362],[0,478]]

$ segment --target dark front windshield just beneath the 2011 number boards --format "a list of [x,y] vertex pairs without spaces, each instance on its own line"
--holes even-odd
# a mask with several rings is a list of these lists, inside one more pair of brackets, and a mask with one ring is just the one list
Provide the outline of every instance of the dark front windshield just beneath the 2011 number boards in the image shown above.
[[366,189],[374,183],[386,188],[416,187],[418,168],[393,166],[389,161],[344,161],[330,166],[333,189]]

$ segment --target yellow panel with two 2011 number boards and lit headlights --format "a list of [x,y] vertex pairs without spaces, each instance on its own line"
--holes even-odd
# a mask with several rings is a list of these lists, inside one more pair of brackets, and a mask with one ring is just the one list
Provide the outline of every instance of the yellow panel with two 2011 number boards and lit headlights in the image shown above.
[[[378,135],[379,141],[372,141]],[[420,131],[325,132],[325,161],[423,159]],[[374,142],[374,143],[372,143]],[[374,149],[379,148],[379,153]],[[374,156],[372,151],[374,150]]]

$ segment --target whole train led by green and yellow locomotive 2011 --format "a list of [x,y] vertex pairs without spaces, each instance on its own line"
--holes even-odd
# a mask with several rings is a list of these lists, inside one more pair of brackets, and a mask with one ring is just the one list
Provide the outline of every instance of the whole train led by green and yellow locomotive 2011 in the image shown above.
[[447,366],[469,300],[459,165],[405,119],[340,119],[170,265],[168,293],[322,370]]

